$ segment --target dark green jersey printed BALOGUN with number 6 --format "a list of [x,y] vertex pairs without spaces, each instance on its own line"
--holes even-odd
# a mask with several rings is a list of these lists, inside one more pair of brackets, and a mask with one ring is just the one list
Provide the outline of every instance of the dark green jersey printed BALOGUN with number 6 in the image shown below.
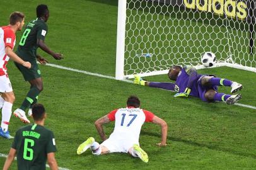
[[56,152],[54,133],[37,124],[22,127],[12,148],[16,149],[18,169],[45,169],[47,154]]

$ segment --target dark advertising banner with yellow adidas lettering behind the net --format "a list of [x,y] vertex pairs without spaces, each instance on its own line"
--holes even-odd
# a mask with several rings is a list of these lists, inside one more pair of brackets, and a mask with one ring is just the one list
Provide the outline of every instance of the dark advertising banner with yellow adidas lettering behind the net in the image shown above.
[[[173,6],[183,6],[198,11],[206,11],[214,14],[224,15],[245,20],[250,20],[249,0],[153,0],[160,3],[172,4]],[[254,0],[253,0],[254,1]],[[256,9],[253,9],[256,14]]]

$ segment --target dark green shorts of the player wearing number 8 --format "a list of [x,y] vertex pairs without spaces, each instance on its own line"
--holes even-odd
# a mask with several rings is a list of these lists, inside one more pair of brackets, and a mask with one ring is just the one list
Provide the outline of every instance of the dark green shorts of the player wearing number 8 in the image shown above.
[[31,62],[31,68],[28,69],[21,64],[15,62],[16,67],[20,70],[23,75],[25,81],[32,81],[33,79],[37,79],[41,77],[41,72],[38,68],[37,62]]

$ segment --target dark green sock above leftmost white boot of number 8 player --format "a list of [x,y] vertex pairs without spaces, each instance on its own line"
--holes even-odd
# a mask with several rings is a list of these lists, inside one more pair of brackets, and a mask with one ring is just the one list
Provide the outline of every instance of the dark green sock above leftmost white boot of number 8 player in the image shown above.
[[40,93],[40,90],[37,87],[32,86],[32,88],[30,88],[30,91],[28,91],[28,94],[26,94],[26,98],[24,99],[22,105],[20,106],[20,109],[23,111],[26,111],[26,108],[29,108],[30,105],[32,105],[32,103],[38,99],[39,93]]

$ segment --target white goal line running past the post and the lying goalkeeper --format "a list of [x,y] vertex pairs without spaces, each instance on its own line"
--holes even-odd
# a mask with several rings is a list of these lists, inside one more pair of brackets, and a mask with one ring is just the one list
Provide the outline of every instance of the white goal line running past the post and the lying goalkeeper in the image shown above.
[[[55,67],[55,68],[58,68],[58,69],[64,69],[64,70],[67,70],[67,71],[81,72],[83,74],[88,74],[88,75],[91,75],[91,76],[103,77],[103,78],[106,78],[106,79],[113,79],[113,80],[115,80],[115,77],[112,77],[112,76],[105,76],[103,74],[98,74],[98,73],[93,73],[93,72],[88,72],[88,71],[80,71],[78,69],[72,69],[71,67],[64,67],[64,66],[56,65],[56,64],[46,64],[46,65],[49,65],[50,67]],[[127,80],[127,79],[120,80],[120,81],[125,81],[125,82],[130,82],[130,83],[133,82],[133,81]],[[235,105],[236,106],[241,106],[241,107],[244,107],[244,108],[251,108],[251,109],[256,110],[255,106],[244,105],[244,104],[241,104],[241,103],[235,103]]]

